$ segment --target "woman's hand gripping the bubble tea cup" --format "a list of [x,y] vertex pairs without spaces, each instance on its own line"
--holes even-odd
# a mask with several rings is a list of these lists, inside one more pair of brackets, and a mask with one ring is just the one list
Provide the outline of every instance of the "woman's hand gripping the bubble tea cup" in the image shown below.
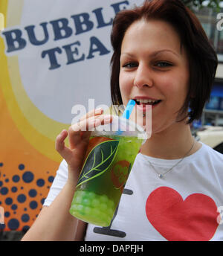
[[[88,147],[91,130],[100,124],[109,124],[111,115],[102,115],[103,109],[94,109],[84,115],[77,124],[65,129],[56,137],[56,150],[68,164],[68,181],[77,183]],[[65,146],[65,138],[69,140],[69,147]],[[75,184],[76,185],[76,184]]]

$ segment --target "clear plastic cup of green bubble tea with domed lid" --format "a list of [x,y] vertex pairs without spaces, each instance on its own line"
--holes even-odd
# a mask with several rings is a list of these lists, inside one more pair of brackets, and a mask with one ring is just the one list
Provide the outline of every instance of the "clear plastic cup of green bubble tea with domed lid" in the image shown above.
[[71,203],[71,215],[86,223],[110,225],[135,157],[145,140],[146,132],[142,127],[117,116],[113,116],[111,124],[91,132]]

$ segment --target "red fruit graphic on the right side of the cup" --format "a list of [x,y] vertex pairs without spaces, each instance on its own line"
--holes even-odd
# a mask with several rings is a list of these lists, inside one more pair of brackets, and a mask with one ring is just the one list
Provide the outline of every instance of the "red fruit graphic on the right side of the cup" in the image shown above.
[[129,161],[121,160],[114,164],[111,170],[111,181],[115,188],[122,188],[129,176]]

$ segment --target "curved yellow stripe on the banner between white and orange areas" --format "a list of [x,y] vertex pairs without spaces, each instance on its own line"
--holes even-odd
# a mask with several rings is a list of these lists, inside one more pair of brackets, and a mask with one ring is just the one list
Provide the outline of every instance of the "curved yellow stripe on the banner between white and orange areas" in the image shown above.
[[[5,28],[7,28],[7,4],[7,0],[0,1],[0,12],[4,14]],[[0,86],[4,94],[4,99],[6,100],[7,107],[10,111],[10,115],[13,118],[16,127],[26,138],[26,140],[29,141],[29,143],[34,148],[36,148],[36,150],[38,150],[43,155],[47,156],[49,159],[53,159],[54,161],[58,162],[61,161],[62,158],[55,150],[54,141],[56,138],[56,134],[58,134],[61,131],[61,129],[67,129],[68,125],[64,124],[63,126],[61,123],[51,121],[50,118],[47,121],[47,117],[45,117],[39,111],[39,109],[33,106],[33,103],[31,103],[31,101],[28,100],[28,96],[26,95],[25,97],[25,91],[24,89],[22,89],[22,83],[19,76],[18,57],[7,58],[7,56],[4,54],[4,40],[2,39],[2,37],[0,37],[0,56]],[[11,64],[13,64],[13,66],[10,66]],[[10,78],[12,77],[13,83],[10,80]],[[18,81],[20,81],[20,83],[18,83]],[[23,107],[23,109],[21,109],[21,106],[19,106],[16,100],[12,86],[18,86],[18,88],[16,88],[16,93],[21,93],[22,97],[24,97],[23,99],[25,100],[25,107],[30,109],[29,116],[36,116],[36,123],[39,124],[39,127],[45,127],[44,129],[40,129],[37,126],[39,130],[36,130],[36,123],[34,122],[33,124],[30,124],[28,116],[25,116],[22,112],[23,110],[25,110],[25,108]],[[26,109],[26,114],[29,109]]]

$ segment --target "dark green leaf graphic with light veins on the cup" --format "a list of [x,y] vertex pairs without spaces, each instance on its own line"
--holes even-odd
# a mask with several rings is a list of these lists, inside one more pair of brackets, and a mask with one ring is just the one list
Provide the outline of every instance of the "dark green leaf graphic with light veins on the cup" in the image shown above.
[[118,140],[103,141],[91,150],[83,164],[77,187],[109,169],[117,153],[118,144]]

